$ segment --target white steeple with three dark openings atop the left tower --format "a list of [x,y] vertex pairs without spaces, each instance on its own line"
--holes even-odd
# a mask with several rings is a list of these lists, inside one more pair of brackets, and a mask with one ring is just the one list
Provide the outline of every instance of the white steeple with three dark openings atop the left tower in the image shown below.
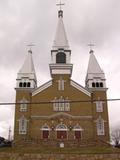
[[29,50],[25,62],[17,74],[17,88],[36,88],[37,78],[32,58],[32,51]]

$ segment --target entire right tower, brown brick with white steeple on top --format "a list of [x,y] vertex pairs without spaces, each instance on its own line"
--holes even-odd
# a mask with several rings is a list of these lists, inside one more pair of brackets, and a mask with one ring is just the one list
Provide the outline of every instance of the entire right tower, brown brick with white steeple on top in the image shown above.
[[109,140],[109,118],[107,104],[106,79],[94,51],[90,50],[90,58],[86,75],[86,88],[92,93],[92,108],[94,123],[94,138]]

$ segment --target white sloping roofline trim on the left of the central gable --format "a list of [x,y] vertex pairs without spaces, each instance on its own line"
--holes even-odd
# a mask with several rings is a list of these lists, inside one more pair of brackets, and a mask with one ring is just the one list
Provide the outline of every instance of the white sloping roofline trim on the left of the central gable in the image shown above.
[[52,86],[52,80],[50,80],[49,82],[43,84],[42,86],[40,86],[39,88],[37,88],[36,90],[34,90],[32,92],[32,96],[35,96],[36,94],[42,92],[43,90],[47,89],[48,87]]

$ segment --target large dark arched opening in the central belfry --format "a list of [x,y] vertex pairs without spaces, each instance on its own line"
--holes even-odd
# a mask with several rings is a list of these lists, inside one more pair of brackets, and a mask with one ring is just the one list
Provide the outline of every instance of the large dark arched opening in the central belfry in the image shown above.
[[56,63],[66,63],[66,54],[64,52],[57,53]]

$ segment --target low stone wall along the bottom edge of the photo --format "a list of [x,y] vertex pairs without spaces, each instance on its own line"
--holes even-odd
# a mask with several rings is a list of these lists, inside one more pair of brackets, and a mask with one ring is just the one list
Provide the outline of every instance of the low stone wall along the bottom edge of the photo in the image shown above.
[[0,160],[120,160],[120,154],[19,154],[0,153]]

